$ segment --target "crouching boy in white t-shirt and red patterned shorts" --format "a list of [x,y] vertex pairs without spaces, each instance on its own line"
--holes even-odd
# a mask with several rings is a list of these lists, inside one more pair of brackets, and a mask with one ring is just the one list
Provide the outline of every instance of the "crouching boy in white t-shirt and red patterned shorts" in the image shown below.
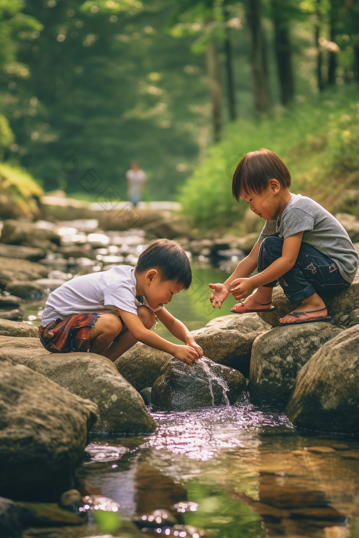
[[[76,277],[52,292],[39,328],[40,341],[53,353],[90,351],[112,361],[139,341],[193,364],[202,357],[202,349],[187,327],[164,308],[191,281],[191,266],[181,245],[157,239],[140,254],[136,267],[119,265]],[[152,332],[156,316],[185,345]]]

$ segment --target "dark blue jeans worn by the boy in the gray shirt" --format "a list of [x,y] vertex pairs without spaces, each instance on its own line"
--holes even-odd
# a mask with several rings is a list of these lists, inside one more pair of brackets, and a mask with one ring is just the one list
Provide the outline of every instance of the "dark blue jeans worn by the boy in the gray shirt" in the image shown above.
[[[280,258],[282,249],[283,239],[280,237],[263,239],[258,252],[258,272],[261,273]],[[301,243],[297,261],[290,271],[279,277],[278,282],[291,303],[303,301],[313,293],[318,293],[320,297],[332,297],[350,286],[336,263],[307,243]],[[274,280],[264,287],[274,288],[276,285],[277,280]]]

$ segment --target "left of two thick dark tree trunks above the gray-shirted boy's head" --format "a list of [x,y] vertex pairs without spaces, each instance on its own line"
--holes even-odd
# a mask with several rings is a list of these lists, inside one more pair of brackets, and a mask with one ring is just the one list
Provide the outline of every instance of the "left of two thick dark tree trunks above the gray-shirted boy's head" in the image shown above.
[[246,0],[245,16],[247,18],[251,46],[251,64],[256,112],[265,112],[270,107],[268,79],[263,61],[263,33],[261,25],[260,0]]

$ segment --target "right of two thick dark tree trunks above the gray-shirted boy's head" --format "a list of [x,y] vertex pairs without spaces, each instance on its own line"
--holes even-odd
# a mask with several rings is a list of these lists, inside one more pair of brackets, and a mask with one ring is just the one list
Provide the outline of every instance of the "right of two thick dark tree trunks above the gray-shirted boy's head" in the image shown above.
[[272,8],[274,48],[277,56],[280,97],[282,104],[286,105],[293,100],[294,95],[290,25],[287,18],[280,16],[283,12],[282,2],[273,0]]

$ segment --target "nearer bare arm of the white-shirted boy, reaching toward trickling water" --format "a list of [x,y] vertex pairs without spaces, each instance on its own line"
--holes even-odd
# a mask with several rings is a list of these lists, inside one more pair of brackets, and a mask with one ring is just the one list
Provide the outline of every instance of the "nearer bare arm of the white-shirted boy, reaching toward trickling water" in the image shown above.
[[170,353],[170,355],[176,359],[182,360],[187,364],[192,364],[199,358],[199,353],[193,347],[189,345],[172,344],[158,336],[156,333],[146,329],[136,314],[126,312],[126,310],[122,310],[118,307],[117,310],[121,314],[122,320],[132,336],[139,342],[149,345],[151,348]]

